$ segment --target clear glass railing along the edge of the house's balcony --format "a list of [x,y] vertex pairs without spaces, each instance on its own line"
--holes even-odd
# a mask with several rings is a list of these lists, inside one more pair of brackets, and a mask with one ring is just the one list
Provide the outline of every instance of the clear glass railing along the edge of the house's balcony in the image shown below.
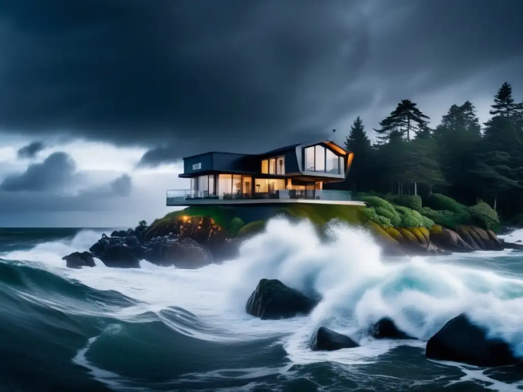
[[209,193],[208,191],[194,191],[190,189],[175,189],[167,191],[167,204],[179,203],[184,200],[240,200],[240,199],[305,199],[305,200],[331,200],[351,201],[350,191],[339,190],[301,190],[282,189],[270,192],[255,193]]

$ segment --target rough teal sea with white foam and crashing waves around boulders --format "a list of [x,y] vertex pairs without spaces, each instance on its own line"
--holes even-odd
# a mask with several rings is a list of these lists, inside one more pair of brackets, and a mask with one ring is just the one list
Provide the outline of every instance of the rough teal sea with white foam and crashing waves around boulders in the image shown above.
[[[65,268],[102,232],[0,229],[0,391],[523,390],[521,369],[429,361],[423,341],[468,312],[523,357],[523,252],[388,260],[357,229],[333,225],[322,243],[275,220],[199,270]],[[307,317],[259,320],[244,307],[261,278],[324,299]],[[422,340],[370,339],[383,316]],[[319,326],[361,347],[311,352]]]

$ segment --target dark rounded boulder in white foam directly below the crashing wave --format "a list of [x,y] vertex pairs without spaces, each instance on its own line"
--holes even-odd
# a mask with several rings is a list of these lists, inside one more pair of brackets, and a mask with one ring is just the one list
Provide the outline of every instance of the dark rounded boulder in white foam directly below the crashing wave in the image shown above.
[[263,320],[277,320],[309,314],[316,304],[314,299],[277,279],[261,279],[247,300],[245,311]]

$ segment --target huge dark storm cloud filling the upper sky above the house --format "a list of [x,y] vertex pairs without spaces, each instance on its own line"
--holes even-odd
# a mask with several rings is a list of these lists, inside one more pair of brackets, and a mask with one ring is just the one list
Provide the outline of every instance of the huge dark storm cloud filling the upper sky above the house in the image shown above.
[[514,60],[522,8],[520,0],[4,1],[0,126],[151,147],[142,164],[263,151]]

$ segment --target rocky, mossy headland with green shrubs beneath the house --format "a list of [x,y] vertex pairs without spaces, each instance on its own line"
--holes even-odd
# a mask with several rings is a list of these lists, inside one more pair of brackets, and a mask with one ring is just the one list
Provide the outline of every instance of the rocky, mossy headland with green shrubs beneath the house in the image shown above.
[[[499,219],[485,203],[464,206],[441,194],[359,195],[365,205],[283,204],[266,206],[190,206],[151,225],[104,234],[88,252],[64,256],[67,267],[140,268],[147,260],[158,266],[200,268],[233,258],[243,240],[263,232],[268,220],[309,220],[321,237],[329,225],[366,229],[387,256],[448,255],[476,250],[521,249],[496,235]],[[424,205],[425,204],[425,205]]]

